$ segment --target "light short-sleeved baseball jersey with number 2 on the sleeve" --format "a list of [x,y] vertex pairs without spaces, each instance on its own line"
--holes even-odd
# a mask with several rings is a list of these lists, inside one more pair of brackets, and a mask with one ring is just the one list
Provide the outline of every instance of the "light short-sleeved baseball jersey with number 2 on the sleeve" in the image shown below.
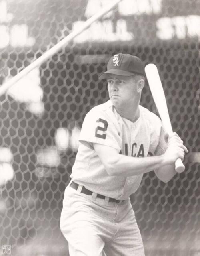
[[94,193],[119,200],[128,199],[138,189],[142,174],[109,176],[93,143],[116,148],[120,154],[132,157],[163,154],[166,143],[160,118],[142,106],[139,109],[140,117],[136,122],[122,118],[110,100],[88,112],[72,168],[73,181]]

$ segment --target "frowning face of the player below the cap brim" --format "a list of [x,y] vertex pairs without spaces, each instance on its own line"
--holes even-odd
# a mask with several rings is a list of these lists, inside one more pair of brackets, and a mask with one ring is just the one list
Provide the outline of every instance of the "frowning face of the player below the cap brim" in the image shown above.
[[132,104],[137,92],[137,85],[133,76],[108,74],[108,93],[115,107],[126,107]]

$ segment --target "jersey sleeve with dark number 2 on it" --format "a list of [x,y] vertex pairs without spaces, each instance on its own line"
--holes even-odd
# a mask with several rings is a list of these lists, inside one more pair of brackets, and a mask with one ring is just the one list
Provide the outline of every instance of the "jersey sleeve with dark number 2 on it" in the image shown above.
[[90,111],[82,124],[80,142],[98,143],[121,150],[122,139],[119,128],[103,111]]

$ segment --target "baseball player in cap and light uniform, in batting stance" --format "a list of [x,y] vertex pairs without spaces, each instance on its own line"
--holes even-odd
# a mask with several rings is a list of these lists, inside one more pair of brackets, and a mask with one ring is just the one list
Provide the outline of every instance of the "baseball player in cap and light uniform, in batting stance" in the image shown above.
[[119,53],[99,77],[107,79],[110,100],[84,119],[63,200],[60,228],[70,256],[144,256],[129,197],[143,173],[155,170],[168,182],[176,159],[188,152],[176,133],[167,138],[158,116],[139,105],[144,75],[138,57]]

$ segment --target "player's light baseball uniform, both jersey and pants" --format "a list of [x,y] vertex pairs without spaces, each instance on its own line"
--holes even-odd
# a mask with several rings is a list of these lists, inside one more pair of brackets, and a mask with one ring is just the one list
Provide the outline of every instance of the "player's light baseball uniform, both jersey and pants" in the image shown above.
[[60,219],[72,256],[144,256],[129,199],[142,174],[108,175],[93,147],[94,143],[110,146],[132,157],[163,154],[166,142],[160,119],[140,105],[139,110],[140,117],[131,122],[108,100],[92,108],[84,119]]

